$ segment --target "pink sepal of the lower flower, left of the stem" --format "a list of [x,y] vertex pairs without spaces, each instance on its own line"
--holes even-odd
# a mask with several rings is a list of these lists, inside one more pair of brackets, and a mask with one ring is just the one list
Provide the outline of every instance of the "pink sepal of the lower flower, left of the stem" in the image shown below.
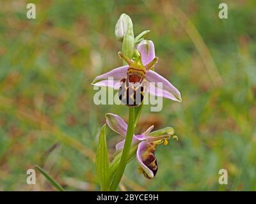
[[118,133],[119,135],[126,136],[127,124],[124,120],[113,113],[106,113],[106,123],[109,128]]

